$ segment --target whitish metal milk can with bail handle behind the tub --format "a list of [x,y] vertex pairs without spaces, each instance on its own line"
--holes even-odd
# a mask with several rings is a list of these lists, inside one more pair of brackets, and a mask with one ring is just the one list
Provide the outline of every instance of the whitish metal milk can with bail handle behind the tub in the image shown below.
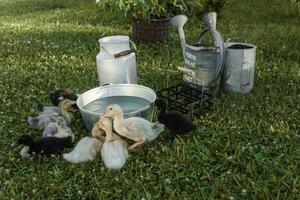
[[108,36],[99,43],[100,52],[96,56],[99,84],[137,84],[136,47],[129,37]]

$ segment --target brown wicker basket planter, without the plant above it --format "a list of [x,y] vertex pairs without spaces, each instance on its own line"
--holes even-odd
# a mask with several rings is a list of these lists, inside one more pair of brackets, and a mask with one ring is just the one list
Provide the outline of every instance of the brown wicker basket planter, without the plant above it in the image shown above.
[[163,42],[170,38],[169,18],[151,21],[136,20],[132,26],[133,38],[144,42]]

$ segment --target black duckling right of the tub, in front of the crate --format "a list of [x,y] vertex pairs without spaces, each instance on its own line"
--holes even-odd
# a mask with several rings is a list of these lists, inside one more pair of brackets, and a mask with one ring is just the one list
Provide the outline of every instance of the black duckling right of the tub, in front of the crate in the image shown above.
[[195,129],[195,125],[184,115],[176,111],[167,111],[168,104],[164,99],[157,99],[155,106],[158,108],[158,121],[164,124],[173,134],[171,139],[175,139],[176,135],[186,134]]

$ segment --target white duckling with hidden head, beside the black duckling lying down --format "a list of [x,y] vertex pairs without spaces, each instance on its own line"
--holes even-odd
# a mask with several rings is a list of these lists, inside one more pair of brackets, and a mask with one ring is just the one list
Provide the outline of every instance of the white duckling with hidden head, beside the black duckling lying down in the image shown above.
[[102,142],[96,138],[84,137],[77,143],[73,151],[63,154],[63,157],[71,163],[93,161],[100,151],[101,145]]

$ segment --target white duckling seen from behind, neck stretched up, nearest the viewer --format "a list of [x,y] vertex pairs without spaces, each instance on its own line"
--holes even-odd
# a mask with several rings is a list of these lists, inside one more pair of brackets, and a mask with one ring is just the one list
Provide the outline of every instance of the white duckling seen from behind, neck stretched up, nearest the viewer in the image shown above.
[[127,143],[112,133],[112,121],[108,118],[99,120],[99,127],[105,133],[105,142],[101,148],[102,160],[108,169],[121,169],[128,158]]

